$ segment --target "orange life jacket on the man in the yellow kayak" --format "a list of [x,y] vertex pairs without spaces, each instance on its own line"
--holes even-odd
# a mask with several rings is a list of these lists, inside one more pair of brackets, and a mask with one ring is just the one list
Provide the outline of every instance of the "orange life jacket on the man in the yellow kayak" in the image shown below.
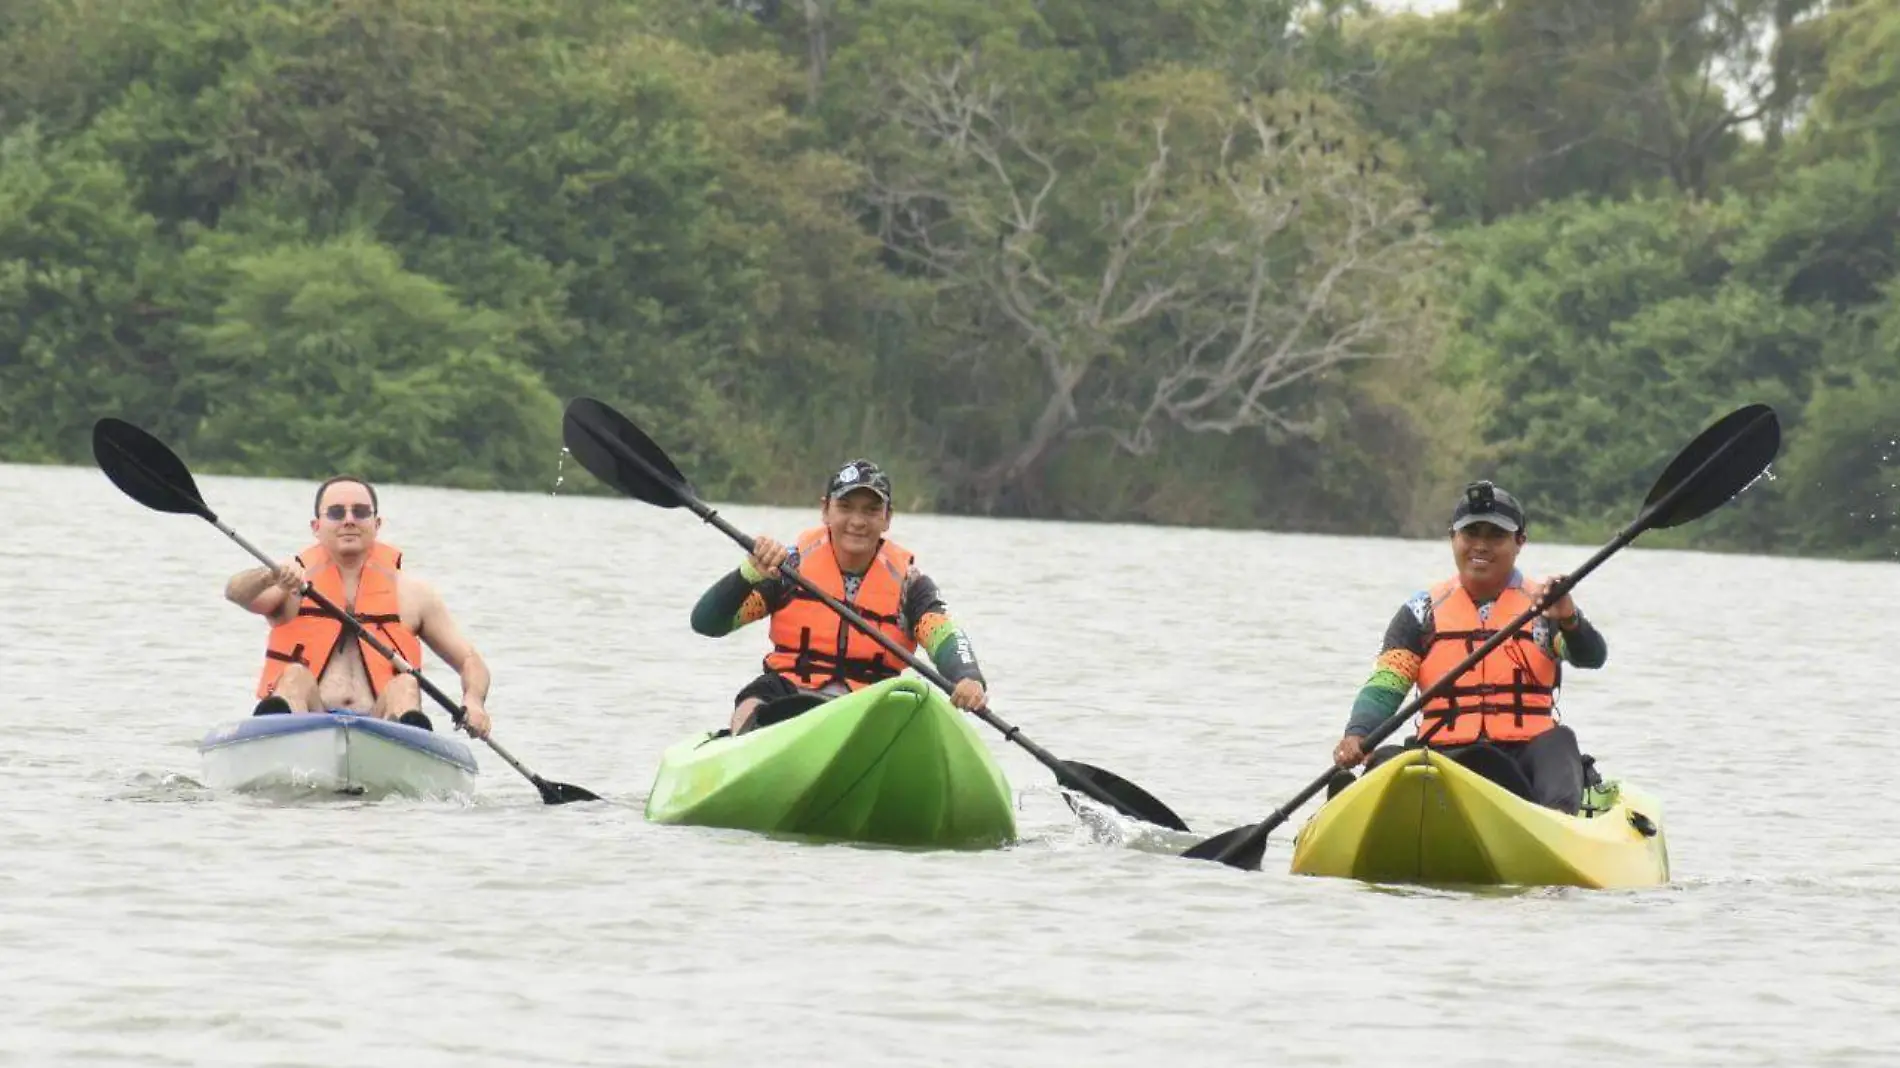
[[[1452,578],[1431,591],[1433,635],[1419,665],[1419,690],[1444,678],[1471,650],[1484,644],[1497,627],[1478,621],[1478,604]],[[1533,604],[1522,585],[1510,585],[1492,602],[1492,623],[1503,625]],[[1556,688],[1562,665],[1543,650],[1530,627],[1501,642],[1461,675],[1444,696],[1419,711],[1417,730],[1450,716],[1427,745],[1471,745],[1492,741],[1530,741],[1556,726]]]

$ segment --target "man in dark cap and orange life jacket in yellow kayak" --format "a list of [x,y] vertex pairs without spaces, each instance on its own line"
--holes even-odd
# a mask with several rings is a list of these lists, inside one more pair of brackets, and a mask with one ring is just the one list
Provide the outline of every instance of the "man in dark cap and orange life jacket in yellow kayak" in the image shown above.
[[[1385,745],[1368,760],[1364,737],[1398,711],[1414,686],[1429,690],[1497,627],[1531,608],[1543,583],[1556,580],[1531,585],[1518,572],[1528,526],[1524,505],[1509,492],[1492,483],[1465,486],[1452,511],[1457,576],[1416,593],[1387,625],[1372,678],[1353,699],[1345,737],[1332,753],[1341,768],[1334,792],[1351,783],[1345,770],[1360,762],[1370,770],[1402,751]],[[1583,804],[1585,768],[1577,735],[1556,718],[1562,663],[1602,667],[1607,658],[1604,635],[1566,595],[1472,665],[1444,696],[1429,701],[1416,730],[1423,734],[1446,720],[1427,745],[1497,749],[1530,781],[1530,800],[1575,813]]]

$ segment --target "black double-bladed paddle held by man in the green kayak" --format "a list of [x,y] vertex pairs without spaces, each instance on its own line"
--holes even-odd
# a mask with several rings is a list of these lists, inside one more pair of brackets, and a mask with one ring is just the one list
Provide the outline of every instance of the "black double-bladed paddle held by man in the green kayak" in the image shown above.
[[[566,418],[562,418],[560,424],[560,437],[566,443],[568,452],[580,460],[581,467],[587,467],[587,471],[602,483],[631,498],[644,500],[646,504],[659,507],[688,507],[694,515],[716,526],[747,551],[752,549],[754,540],[707,507],[686,475],[682,475],[673,460],[667,458],[667,452],[659,448],[659,445],[654,445],[654,439],[635,426],[633,420],[619,414],[610,405],[593,397],[580,397],[572,401],[568,405]],[[944,678],[942,673],[880,633],[847,604],[819,589],[811,580],[798,574],[798,568],[785,564],[779,568],[779,574],[798,583],[811,597],[823,601],[825,606],[844,618],[846,623],[868,635],[891,656],[897,656],[916,669],[918,675],[929,678],[944,692],[952,690],[950,680]],[[1153,794],[1121,775],[1075,760],[1056,760],[1056,756],[1047,749],[1024,737],[1020,728],[1003,722],[990,709],[977,709],[975,715],[982,722],[1003,732],[1003,737],[1015,741],[1026,749],[1030,756],[1036,756],[1045,768],[1054,772],[1056,783],[1064,789],[1087,794],[1089,798],[1094,798],[1096,802],[1106,804],[1132,819],[1142,819],[1170,830],[1188,830],[1182,817],[1174,815],[1168,806],[1161,804]]]

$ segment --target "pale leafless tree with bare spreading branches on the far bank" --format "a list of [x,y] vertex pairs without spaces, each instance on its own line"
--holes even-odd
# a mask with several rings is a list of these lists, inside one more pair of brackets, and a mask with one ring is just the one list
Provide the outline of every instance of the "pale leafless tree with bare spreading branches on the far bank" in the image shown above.
[[971,63],[897,84],[889,118],[922,152],[874,175],[885,247],[1039,367],[1036,418],[978,479],[1016,483],[1083,433],[1130,452],[1167,428],[1313,433],[1302,386],[1416,352],[1436,247],[1417,196],[1311,101],[1218,97],[1157,93],[1106,158]]

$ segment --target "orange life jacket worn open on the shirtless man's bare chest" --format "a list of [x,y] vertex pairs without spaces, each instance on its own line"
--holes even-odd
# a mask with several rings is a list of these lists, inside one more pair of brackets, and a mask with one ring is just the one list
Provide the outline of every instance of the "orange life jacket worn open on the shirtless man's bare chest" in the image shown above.
[[[304,549],[296,555],[296,563],[304,564],[304,580],[317,593],[329,597],[332,604],[348,608],[382,644],[403,654],[403,659],[410,667],[422,667],[422,640],[403,625],[401,606],[397,604],[395,572],[403,566],[401,549],[382,542],[370,549],[369,559],[363,561],[363,574],[357,576],[355,604],[350,604],[344,597],[344,572],[323,545]],[[291,616],[287,623],[274,623],[270,627],[270,642],[264,648],[264,675],[256,680],[256,696],[268,697],[277,686],[277,678],[283,677],[283,669],[293,663],[302,663],[312,675],[323,678],[323,667],[336,656],[344,633],[342,620],[331,616],[314,599],[306,597],[296,606],[296,616]],[[397,675],[395,665],[361,639],[357,639],[355,646],[363,656],[363,667],[369,669],[370,692],[382,694],[382,688]]]

